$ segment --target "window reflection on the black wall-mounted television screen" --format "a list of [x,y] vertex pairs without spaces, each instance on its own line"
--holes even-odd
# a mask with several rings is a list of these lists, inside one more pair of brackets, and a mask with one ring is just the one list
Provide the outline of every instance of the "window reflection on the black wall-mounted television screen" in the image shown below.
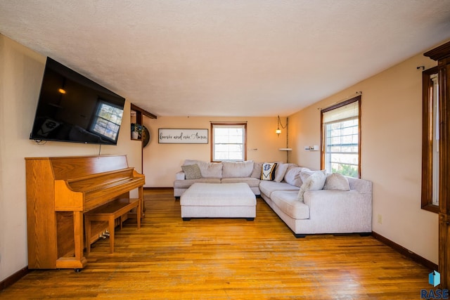
[[123,113],[124,111],[120,107],[100,100],[94,122],[91,125],[91,131],[100,134],[108,140],[116,141]]

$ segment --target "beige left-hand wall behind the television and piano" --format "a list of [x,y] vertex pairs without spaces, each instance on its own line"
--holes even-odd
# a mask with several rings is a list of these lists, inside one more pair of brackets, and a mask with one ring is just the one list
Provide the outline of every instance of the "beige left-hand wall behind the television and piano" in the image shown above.
[[[0,281],[27,266],[25,157],[98,155],[98,145],[29,140],[46,58],[0,34]],[[111,88],[110,88],[111,89]],[[122,95],[123,96],[123,95]],[[130,143],[129,103],[117,146],[141,172],[141,145]]]

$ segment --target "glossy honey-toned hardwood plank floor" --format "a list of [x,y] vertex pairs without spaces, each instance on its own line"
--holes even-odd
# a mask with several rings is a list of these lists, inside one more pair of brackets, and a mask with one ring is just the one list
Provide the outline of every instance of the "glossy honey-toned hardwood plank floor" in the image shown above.
[[[420,299],[430,270],[373,237],[296,239],[257,201],[255,221],[182,221],[172,190],[146,190],[131,221],[94,243],[88,266],[33,270],[0,299]],[[129,223],[127,223],[129,222]]]

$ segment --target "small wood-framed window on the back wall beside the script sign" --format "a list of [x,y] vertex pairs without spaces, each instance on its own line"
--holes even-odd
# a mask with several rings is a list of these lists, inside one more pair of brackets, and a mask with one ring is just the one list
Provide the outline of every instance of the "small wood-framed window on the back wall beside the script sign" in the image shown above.
[[212,162],[244,161],[247,158],[246,131],[246,123],[212,123]]

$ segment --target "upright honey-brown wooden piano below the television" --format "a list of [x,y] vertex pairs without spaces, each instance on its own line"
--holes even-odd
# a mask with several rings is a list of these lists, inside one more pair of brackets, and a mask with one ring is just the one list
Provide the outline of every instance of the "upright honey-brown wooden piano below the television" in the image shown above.
[[145,176],[125,155],[27,157],[25,165],[28,268],[84,268],[84,212],[136,188],[143,200]]

